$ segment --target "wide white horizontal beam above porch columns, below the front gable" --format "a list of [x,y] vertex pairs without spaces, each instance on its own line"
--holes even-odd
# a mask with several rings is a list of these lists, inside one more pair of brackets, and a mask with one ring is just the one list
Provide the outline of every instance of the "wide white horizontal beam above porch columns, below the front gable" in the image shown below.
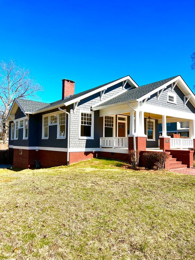
[[179,117],[179,118],[188,119],[188,120],[195,120],[194,113],[183,112],[181,110],[165,108],[162,106],[154,106],[154,105],[145,104],[143,107],[141,107],[140,110],[143,112],[157,114],[157,115],[167,115],[167,116],[172,116],[172,117],[176,117],[176,118]]

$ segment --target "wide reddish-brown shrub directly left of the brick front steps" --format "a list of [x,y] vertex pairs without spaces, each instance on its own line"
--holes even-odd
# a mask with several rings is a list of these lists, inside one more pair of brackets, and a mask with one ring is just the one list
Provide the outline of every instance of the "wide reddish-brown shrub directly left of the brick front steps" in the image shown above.
[[165,152],[148,152],[143,154],[143,161],[145,169],[164,169],[164,164],[168,159],[169,154]]

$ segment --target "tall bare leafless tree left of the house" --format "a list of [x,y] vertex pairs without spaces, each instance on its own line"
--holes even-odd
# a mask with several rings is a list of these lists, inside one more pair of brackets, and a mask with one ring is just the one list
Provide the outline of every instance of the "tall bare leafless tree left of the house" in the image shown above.
[[0,63],[0,131],[4,143],[7,142],[9,125],[2,122],[7,118],[14,98],[36,97],[40,90],[41,86],[30,77],[30,70],[17,66],[13,60]]

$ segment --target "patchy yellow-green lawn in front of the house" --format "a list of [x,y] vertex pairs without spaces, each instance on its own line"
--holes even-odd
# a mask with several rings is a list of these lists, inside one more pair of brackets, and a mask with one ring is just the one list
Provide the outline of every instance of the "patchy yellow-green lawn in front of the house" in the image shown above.
[[0,169],[0,259],[195,259],[194,201],[195,176],[114,160]]

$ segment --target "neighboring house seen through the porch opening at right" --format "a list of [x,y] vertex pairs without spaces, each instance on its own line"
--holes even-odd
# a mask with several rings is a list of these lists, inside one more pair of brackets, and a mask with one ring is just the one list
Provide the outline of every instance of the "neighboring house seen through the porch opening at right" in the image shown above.
[[[167,123],[167,135],[180,134],[181,137],[189,137],[189,121]],[[159,124],[159,133],[162,135],[162,124]]]

